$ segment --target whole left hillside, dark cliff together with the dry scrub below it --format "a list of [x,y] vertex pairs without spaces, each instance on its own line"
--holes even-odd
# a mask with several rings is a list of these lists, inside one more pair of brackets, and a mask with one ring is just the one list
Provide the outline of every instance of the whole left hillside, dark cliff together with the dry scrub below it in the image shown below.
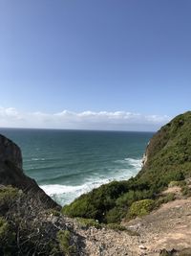
[[0,255],[80,255],[83,242],[60,208],[24,174],[18,146],[0,135]]

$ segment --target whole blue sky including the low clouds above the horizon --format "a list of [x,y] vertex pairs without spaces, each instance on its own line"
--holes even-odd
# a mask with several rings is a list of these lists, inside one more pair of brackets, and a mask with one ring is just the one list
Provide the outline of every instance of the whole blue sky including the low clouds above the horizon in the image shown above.
[[190,109],[190,0],[0,0],[0,127],[157,130]]

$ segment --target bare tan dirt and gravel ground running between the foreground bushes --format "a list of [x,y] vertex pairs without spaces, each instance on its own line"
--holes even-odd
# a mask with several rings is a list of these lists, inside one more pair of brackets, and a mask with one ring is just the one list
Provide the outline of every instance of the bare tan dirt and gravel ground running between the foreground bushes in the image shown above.
[[74,220],[73,224],[75,232],[84,238],[85,252],[81,255],[159,256],[163,248],[181,250],[191,247],[191,198],[176,199],[148,216],[122,223],[137,231],[139,236],[105,228],[83,230]]

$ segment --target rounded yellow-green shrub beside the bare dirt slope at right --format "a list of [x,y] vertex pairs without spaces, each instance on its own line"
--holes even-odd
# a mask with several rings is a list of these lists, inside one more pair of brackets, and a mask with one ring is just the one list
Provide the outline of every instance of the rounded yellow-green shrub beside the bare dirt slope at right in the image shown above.
[[137,216],[147,215],[154,208],[155,201],[152,199],[143,199],[132,203],[128,217],[135,218]]

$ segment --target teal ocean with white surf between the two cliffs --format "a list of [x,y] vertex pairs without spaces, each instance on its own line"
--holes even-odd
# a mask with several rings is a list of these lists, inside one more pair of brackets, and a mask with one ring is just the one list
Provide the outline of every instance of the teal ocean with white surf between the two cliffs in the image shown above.
[[22,151],[23,169],[59,204],[137,175],[152,132],[0,128]]

